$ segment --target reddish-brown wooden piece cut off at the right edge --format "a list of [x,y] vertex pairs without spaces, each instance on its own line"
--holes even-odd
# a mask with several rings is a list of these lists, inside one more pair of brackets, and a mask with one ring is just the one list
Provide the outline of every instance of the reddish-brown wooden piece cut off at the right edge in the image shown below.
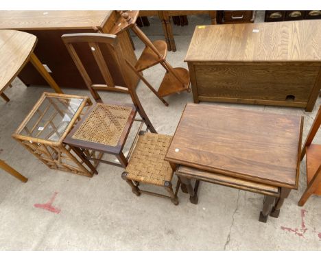
[[313,144],[312,141],[321,125],[321,106],[314,119],[311,130],[302,148],[301,160],[306,157],[307,163],[307,189],[302,194],[298,205],[303,206],[310,195],[321,195],[321,145]]

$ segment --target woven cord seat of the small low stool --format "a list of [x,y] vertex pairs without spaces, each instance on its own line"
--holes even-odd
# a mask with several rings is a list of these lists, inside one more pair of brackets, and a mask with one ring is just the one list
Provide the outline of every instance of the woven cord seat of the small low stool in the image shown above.
[[164,186],[171,182],[173,170],[165,161],[172,136],[165,134],[145,133],[139,136],[132,157],[126,167],[130,180]]

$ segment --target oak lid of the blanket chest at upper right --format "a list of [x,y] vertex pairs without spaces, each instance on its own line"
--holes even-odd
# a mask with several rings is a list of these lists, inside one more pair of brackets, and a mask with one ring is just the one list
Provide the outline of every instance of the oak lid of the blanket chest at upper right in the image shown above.
[[185,61],[321,60],[321,21],[202,25]]

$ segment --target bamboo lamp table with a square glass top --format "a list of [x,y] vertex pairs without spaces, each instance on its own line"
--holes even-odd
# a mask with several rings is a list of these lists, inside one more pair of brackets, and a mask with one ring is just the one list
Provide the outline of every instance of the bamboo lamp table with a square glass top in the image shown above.
[[49,168],[91,177],[95,167],[62,143],[88,106],[88,97],[43,93],[12,136]]

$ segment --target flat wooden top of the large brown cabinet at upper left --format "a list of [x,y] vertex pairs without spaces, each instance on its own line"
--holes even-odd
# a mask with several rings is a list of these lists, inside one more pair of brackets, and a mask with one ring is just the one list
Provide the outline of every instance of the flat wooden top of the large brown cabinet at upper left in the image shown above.
[[100,27],[112,11],[0,11],[1,29],[86,29]]

